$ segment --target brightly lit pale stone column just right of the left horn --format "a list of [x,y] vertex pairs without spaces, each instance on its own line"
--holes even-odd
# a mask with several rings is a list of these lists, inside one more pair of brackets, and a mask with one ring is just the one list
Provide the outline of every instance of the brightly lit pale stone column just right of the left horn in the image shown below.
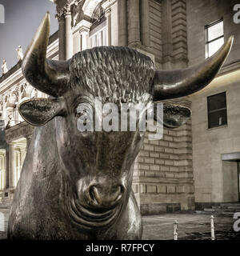
[[66,6],[65,14],[65,39],[66,39],[66,59],[72,58],[74,54],[73,31],[71,27],[72,15],[70,6]]

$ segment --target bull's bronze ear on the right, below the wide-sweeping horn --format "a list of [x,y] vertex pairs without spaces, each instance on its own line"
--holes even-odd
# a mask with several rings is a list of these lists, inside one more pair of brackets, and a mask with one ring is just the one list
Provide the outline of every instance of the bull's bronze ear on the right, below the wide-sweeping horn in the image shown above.
[[[154,106],[157,103],[154,103]],[[154,108],[156,109],[156,108]],[[154,119],[157,121],[157,111],[154,110]],[[191,110],[186,106],[163,103],[163,126],[178,128],[184,125],[191,116]],[[159,118],[158,118],[159,119]]]

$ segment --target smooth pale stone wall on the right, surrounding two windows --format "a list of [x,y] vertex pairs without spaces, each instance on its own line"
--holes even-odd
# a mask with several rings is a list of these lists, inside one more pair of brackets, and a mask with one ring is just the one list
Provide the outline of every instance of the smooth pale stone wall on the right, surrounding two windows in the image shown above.
[[[187,33],[190,65],[205,59],[205,26],[223,18],[224,38],[234,34],[234,45],[220,73],[205,90],[190,97],[192,101],[192,134],[195,201],[198,208],[236,201],[230,196],[237,179],[235,170],[222,162],[222,154],[240,152],[239,130],[239,24],[233,21],[236,0],[187,1]],[[226,72],[227,71],[227,72]],[[223,74],[226,72],[226,74]],[[207,97],[226,91],[227,125],[208,129]],[[231,173],[230,173],[231,171]],[[234,174],[235,173],[235,174]],[[233,177],[235,176],[235,178]],[[238,192],[235,189],[234,194]],[[232,192],[231,192],[232,193]]]

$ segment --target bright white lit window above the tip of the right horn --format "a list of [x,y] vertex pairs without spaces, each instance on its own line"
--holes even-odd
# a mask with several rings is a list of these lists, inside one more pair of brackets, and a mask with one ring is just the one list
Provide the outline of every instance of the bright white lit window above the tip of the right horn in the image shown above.
[[210,58],[224,43],[223,20],[206,26],[206,58]]

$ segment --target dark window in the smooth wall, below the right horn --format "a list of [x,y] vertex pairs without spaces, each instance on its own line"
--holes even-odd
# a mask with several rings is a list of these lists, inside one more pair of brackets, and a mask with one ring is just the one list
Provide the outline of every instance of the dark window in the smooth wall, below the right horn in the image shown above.
[[208,128],[227,124],[226,92],[207,97]]

